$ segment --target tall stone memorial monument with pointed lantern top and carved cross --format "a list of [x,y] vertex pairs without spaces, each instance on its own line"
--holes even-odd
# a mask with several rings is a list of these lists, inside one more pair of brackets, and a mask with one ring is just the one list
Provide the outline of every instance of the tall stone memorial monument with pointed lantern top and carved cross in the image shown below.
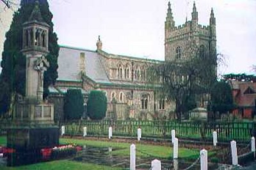
[[26,56],[26,96],[17,99],[12,126],[7,132],[7,146],[17,153],[40,153],[41,148],[59,144],[59,129],[54,125],[53,104],[43,101],[44,71],[49,67],[45,56],[49,53],[50,27],[44,22],[38,5],[36,1],[28,22],[23,24],[22,53]]

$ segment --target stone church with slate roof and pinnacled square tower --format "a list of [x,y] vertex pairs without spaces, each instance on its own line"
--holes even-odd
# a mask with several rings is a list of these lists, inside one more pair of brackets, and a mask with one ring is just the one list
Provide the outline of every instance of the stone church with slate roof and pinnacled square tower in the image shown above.
[[[189,57],[193,48],[216,51],[216,22],[213,10],[208,26],[198,24],[193,4],[192,19],[176,26],[170,2],[165,21],[165,60]],[[49,100],[54,103],[54,118],[63,118],[63,98],[67,89],[81,89],[84,105],[90,90],[103,90],[108,99],[106,119],[172,118],[175,103],[161,99],[147,84],[147,68],[163,60],[142,59],[104,52],[100,37],[97,49],[86,50],[60,46],[58,80],[50,87]],[[113,100],[114,99],[114,100]]]

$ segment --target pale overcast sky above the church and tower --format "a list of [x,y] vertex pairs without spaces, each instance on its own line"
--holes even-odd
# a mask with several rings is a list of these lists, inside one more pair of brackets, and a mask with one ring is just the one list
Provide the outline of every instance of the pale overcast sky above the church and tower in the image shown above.
[[[191,20],[193,1],[171,0],[176,25]],[[197,0],[198,22],[209,25],[214,9],[218,52],[228,60],[221,73],[252,73],[256,64],[256,1]],[[168,0],[50,0],[60,45],[96,49],[100,35],[109,53],[164,60]]]

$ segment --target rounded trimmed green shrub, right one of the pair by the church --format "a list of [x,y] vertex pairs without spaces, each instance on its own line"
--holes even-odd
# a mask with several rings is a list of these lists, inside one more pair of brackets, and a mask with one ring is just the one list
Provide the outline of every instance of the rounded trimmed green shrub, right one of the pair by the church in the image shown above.
[[106,117],[107,97],[105,92],[93,90],[90,92],[87,103],[88,117],[92,120],[101,120]]

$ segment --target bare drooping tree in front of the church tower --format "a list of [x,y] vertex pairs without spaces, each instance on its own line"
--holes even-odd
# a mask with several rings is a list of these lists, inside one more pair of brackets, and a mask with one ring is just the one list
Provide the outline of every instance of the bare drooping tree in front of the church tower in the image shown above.
[[[216,51],[200,52],[195,47],[191,57],[183,60],[165,61],[148,69],[148,80],[158,84],[158,91],[170,101],[175,101],[178,120],[188,111],[191,97],[209,94],[216,81],[217,66],[223,62],[223,55]],[[192,104],[195,105],[195,104]]]

